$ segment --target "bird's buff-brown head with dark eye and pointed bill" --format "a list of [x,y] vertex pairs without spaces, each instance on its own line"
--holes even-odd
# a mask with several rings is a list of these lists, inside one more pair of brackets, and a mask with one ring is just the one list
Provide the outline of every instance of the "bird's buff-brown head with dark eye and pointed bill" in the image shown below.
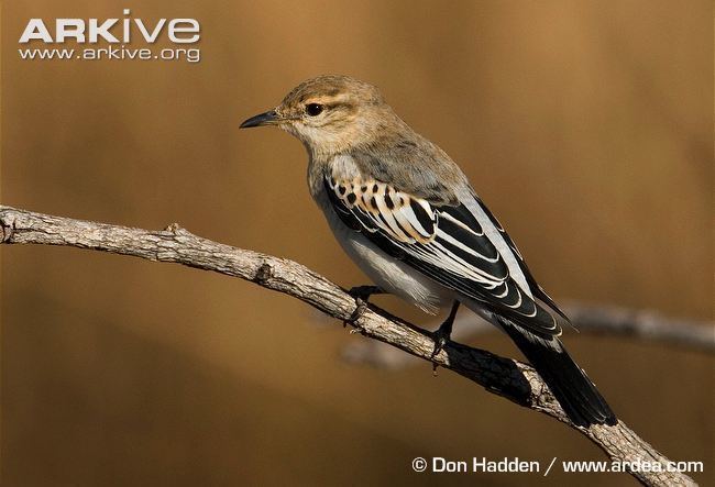
[[294,88],[280,104],[241,129],[276,125],[312,153],[339,153],[370,140],[396,119],[374,86],[348,76],[319,76]]

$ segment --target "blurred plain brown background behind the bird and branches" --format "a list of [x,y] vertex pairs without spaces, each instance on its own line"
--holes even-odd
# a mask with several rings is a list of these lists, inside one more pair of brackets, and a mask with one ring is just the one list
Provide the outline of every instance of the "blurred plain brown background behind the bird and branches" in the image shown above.
[[[201,62],[18,55],[30,18],[123,8],[198,19]],[[308,196],[300,144],[238,131],[323,73],[378,85],[459,162],[554,297],[712,318],[708,1],[7,1],[1,201],[177,221],[364,284]],[[427,364],[350,366],[340,350],[364,339],[254,285],[70,248],[1,256],[3,485],[635,484],[411,473],[415,456],[604,457]],[[711,356],[566,341],[634,430],[712,479]],[[476,344],[518,356],[496,333]]]

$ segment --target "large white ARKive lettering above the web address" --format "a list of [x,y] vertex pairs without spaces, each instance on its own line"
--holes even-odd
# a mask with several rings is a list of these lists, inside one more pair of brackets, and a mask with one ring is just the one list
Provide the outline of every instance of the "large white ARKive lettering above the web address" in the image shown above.
[[[124,9],[124,15],[130,15],[131,10]],[[121,33],[117,33],[117,25],[121,25]],[[30,41],[43,41],[44,43],[64,43],[68,38],[75,40],[78,44],[96,44],[100,37],[110,44],[128,44],[132,42],[138,34],[140,38],[153,44],[166,32],[168,40],[177,44],[191,44],[200,38],[200,25],[196,19],[160,19],[156,24],[148,25],[142,19],[106,19],[101,24],[98,19],[56,19],[55,35],[53,36],[50,29],[42,19],[30,19],[24,32],[20,36],[20,44]],[[117,33],[121,36],[117,37]]]

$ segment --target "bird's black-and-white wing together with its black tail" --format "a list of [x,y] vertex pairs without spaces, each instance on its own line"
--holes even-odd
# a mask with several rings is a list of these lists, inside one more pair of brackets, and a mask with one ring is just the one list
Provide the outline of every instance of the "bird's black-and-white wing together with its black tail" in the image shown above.
[[591,379],[566,353],[558,337],[561,326],[541,303],[563,313],[473,191],[465,190],[458,204],[432,204],[376,180],[327,177],[324,186],[333,210],[348,226],[492,311],[574,424],[617,422]]

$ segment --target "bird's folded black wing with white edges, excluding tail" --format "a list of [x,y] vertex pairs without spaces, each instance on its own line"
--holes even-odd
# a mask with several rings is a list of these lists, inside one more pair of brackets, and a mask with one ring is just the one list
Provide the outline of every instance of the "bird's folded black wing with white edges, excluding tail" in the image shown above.
[[[341,220],[388,255],[537,336],[548,340],[561,333],[528,285],[522,288],[512,276],[506,259],[522,261],[512,251],[512,240],[499,252],[464,203],[432,204],[386,182],[360,177],[326,176],[323,182]],[[474,202],[483,206],[476,199]]]

